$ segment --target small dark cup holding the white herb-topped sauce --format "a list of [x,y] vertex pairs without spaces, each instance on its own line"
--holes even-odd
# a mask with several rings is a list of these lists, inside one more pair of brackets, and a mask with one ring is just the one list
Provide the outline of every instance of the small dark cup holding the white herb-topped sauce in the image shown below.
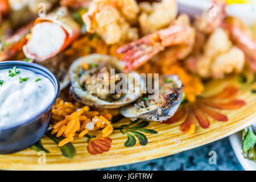
[[0,154],[10,154],[24,150],[38,142],[43,137],[48,127],[49,118],[51,117],[52,105],[55,103],[60,92],[59,81],[57,77],[49,71],[49,69],[42,67],[39,64],[27,63],[26,61],[0,62],[0,69],[13,68],[15,66],[17,68],[28,69],[39,73],[51,80],[55,88],[55,97],[40,114],[24,121],[20,125],[11,127],[3,126],[0,128]]

